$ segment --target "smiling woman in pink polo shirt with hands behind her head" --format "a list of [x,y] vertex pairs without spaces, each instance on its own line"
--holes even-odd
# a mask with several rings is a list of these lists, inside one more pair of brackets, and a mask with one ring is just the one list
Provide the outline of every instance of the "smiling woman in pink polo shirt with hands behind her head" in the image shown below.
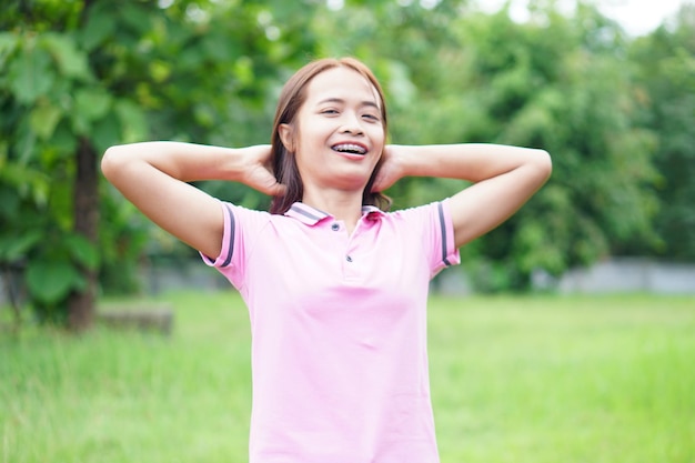
[[[314,61],[285,84],[272,145],[110,148],[104,175],[240,291],[251,315],[253,463],[439,461],[430,400],[430,280],[457,249],[548,178],[542,150],[386,145],[386,110],[354,59]],[[406,175],[474,182],[384,212]],[[271,212],[221,202],[194,180],[242,182]]]

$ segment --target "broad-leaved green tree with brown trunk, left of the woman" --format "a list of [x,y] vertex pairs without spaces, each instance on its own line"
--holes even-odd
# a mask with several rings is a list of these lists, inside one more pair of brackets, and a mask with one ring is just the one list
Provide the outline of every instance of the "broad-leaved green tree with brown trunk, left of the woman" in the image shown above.
[[259,135],[259,121],[269,119],[265,102],[278,76],[312,42],[291,22],[275,24],[301,8],[137,0],[7,6],[0,260],[24,266],[38,314],[88,328],[99,271],[115,274],[143,245],[139,215],[99,183],[105,148],[148,139],[268,140]]

